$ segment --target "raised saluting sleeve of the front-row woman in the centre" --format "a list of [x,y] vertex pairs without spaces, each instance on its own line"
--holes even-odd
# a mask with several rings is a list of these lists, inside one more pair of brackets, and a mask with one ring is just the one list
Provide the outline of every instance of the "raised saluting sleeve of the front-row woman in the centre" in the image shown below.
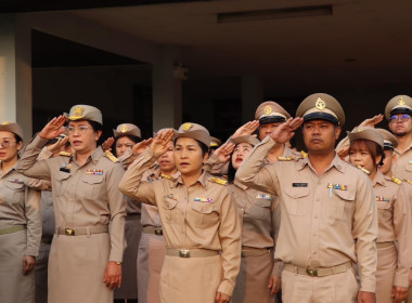
[[[147,148],[125,172],[119,183],[121,193],[142,203],[156,205],[154,182],[142,182],[143,173],[156,162],[152,149]],[[155,181],[156,182],[156,181]]]

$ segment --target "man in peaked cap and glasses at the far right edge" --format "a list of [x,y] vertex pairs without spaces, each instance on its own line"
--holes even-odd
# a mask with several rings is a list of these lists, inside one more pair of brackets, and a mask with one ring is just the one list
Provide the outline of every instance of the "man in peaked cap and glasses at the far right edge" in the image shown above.
[[392,167],[394,175],[412,180],[412,98],[408,95],[392,97],[385,107],[385,118],[389,129],[398,139],[395,148],[397,161]]

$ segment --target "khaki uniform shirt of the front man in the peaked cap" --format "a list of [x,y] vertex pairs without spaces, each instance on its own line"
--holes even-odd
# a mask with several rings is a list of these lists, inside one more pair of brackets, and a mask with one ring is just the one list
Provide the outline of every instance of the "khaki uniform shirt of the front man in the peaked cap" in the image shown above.
[[263,166],[274,144],[270,137],[258,144],[236,180],[281,199],[275,258],[310,268],[352,261],[359,265],[361,291],[375,292],[377,215],[368,176],[336,155],[322,175],[309,157]]

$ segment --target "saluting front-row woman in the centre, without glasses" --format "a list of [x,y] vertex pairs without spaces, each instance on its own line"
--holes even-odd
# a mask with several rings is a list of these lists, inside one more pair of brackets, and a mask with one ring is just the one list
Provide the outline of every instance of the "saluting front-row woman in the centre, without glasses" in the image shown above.
[[227,303],[240,267],[241,226],[226,182],[202,169],[209,132],[199,124],[182,124],[173,152],[178,179],[141,182],[142,174],[167,150],[172,135],[172,130],[158,134],[119,186],[133,199],[158,207],[167,247],[160,301]]

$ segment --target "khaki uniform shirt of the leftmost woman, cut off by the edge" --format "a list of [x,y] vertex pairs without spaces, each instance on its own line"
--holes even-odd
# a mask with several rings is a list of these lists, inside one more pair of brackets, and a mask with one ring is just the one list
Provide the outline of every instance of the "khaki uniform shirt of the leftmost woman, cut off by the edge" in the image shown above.
[[[1,161],[0,161],[1,164]],[[0,229],[26,225],[27,246],[24,255],[37,256],[41,239],[41,188],[36,180],[14,168],[5,174],[0,170]]]

